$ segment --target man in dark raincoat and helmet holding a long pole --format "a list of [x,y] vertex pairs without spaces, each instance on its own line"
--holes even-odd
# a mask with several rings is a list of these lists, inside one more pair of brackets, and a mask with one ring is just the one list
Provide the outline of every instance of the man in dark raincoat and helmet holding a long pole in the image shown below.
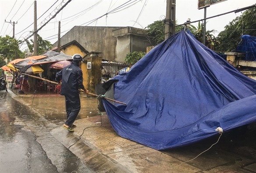
[[72,128],[76,126],[73,125],[80,109],[80,97],[78,93],[78,87],[89,93],[83,85],[83,74],[82,70],[79,68],[82,56],[75,54],[72,57],[73,61],[70,65],[65,66],[60,72],[56,73],[56,81],[60,83],[61,80],[61,90],[60,95],[64,95],[66,99],[66,112],[68,120],[62,126],[69,131],[74,131]]

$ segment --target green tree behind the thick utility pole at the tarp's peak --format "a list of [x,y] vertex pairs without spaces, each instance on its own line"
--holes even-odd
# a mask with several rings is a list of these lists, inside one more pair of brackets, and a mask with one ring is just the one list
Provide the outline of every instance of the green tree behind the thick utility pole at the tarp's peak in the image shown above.
[[[176,25],[178,21],[176,20]],[[154,21],[152,24],[149,24],[146,28],[147,34],[149,36],[153,36],[153,41],[156,42],[156,45],[164,41],[164,33],[165,33],[165,24],[164,20],[162,21]],[[175,28],[175,32],[181,31],[182,26],[178,26]]]

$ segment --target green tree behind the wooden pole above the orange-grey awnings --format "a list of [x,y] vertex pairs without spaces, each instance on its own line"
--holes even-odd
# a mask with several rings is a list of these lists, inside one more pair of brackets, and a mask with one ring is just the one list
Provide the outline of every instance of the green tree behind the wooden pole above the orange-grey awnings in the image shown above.
[[[30,42],[26,40],[29,51],[34,52],[34,40],[30,39]],[[37,55],[42,55],[44,52],[52,48],[53,48],[53,45],[49,41],[43,40],[43,38],[39,34],[37,34]]]

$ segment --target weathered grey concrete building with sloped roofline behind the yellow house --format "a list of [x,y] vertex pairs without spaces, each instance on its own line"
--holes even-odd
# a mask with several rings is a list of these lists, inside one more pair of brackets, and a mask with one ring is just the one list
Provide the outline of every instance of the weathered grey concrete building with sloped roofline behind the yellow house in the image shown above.
[[[75,26],[60,38],[60,45],[76,40],[88,52],[102,52],[103,59],[124,62],[129,52],[146,52],[148,42],[145,30],[132,27]],[[57,42],[53,44],[57,46]]]

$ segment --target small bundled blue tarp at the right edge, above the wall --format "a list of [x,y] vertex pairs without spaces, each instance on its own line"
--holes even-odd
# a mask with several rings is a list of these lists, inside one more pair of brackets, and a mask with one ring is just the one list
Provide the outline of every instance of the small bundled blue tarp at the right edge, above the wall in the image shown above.
[[242,52],[245,53],[245,60],[255,61],[256,60],[256,37],[250,35],[241,36],[242,40],[239,43],[236,50],[232,52]]

